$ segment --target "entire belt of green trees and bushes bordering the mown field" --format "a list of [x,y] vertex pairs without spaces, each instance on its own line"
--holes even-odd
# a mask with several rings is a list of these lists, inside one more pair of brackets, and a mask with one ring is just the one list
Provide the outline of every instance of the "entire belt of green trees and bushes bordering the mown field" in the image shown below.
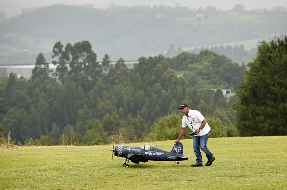
[[[286,36],[262,41],[247,66],[202,50],[140,57],[129,69],[123,58],[110,64],[108,54],[99,64],[89,41],[57,42],[53,77],[39,53],[30,79],[0,80],[0,143],[5,136],[18,145],[172,140],[181,103],[204,115],[210,137],[286,135],[286,47]],[[236,94],[226,99],[223,88]]]

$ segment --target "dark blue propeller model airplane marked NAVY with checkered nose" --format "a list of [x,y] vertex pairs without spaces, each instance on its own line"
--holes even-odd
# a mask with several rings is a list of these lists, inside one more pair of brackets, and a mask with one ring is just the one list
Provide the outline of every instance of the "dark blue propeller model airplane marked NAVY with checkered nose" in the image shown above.
[[161,150],[156,147],[152,147],[149,145],[143,145],[141,147],[134,147],[134,146],[116,146],[115,142],[112,153],[112,159],[114,156],[126,158],[125,163],[123,166],[129,167],[129,160],[134,164],[138,164],[139,162],[148,162],[148,160],[154,161],[175,161],[179,164],[178,161],[188,160],[187,157],[183,156],[183,145],[178,142],[174,144],[172,150],[170,152]]

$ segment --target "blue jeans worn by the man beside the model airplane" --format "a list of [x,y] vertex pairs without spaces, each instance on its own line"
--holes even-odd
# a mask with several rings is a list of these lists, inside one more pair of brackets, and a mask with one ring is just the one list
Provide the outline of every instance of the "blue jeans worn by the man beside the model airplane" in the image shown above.
[[[212,160],[213,156],[210,152],[210,150],[208,150],[207,148],[207,141],[208,141],[208,137],[209,137],[210,132],[208,132],[208,134],[202,135],[202,136],[193,136],[192,140],[193,140],[193,150],[196,156],[196,162],[202,163],[202,156],[201,156],[201,152],[200,149],[205,152],[206,157],[208,160]],[[200,148],[200,149],[199,149]]]

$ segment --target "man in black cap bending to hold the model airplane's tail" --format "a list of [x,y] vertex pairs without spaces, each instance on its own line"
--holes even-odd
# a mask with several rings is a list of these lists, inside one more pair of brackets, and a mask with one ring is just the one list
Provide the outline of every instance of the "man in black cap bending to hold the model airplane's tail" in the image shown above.
[[210,150],[208,150],[206,146],[210,134],[210,126],[208,125],[207,121],[199,111],[189,109],[186,103],[182,103],[179,106],[179,109],[181,110],[183,117],[179,137],[177,138],[177,140],[175,140],[174,143],[177,144],[181,140],[181,137],[185,132],[186,126],[189,126],[189,128],[193,132],[196,132],[196,134],[192,138],[193,150],[196,156],[196,163],[192,164],[191,167],[203,166],[200,149],[203,152],[205,152],[206,157],[208,159],[205,166],[211,166],[212,162],[215,160],[215,157],[213,156],[213,154],[211,154]]

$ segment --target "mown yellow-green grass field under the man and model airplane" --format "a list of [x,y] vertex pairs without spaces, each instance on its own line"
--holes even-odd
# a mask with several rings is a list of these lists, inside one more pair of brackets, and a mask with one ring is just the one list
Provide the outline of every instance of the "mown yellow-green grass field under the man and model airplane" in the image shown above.
[[[0,189],[286,189],[287,137],[210,138],[210,167],[192,168],[192,140],[181,141],[187,161],[122,166],[112,145],[0,148]],[[170,151],[174,141],[148,144]],[[205,164],[206,157],[203,155]]]

